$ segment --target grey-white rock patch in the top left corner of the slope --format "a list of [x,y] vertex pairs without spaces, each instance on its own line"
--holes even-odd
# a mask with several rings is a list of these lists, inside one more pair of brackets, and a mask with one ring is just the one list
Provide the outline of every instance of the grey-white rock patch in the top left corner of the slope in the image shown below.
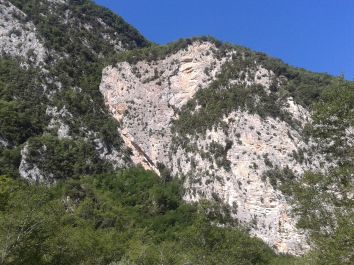
[[21,57],[34,65],[46,57],[33,23],[26,22],[26,14],[7,0],[0,0],[0,53]]

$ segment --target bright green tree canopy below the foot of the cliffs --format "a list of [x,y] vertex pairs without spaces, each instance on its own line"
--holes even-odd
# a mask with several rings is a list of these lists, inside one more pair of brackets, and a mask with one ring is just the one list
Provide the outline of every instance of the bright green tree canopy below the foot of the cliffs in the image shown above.
[[166,182],[140,168],[51,188],[4,178],[0,183],[0,198],[6,194],[7,201],[0,215],[1,264],[243,265],[291,260],[227,225],[227,214],[218,207],[183,202],[177,180]]

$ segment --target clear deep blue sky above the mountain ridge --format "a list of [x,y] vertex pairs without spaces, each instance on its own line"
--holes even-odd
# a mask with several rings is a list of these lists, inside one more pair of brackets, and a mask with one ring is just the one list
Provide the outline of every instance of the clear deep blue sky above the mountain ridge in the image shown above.
[[96,0],[147,39],[210,35],[354,79],[354,0]]

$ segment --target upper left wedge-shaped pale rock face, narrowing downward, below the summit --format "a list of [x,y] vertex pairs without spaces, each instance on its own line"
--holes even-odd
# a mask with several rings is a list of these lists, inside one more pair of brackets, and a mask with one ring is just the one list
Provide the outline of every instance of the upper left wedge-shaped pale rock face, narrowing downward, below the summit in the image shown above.
[[157,161],[168,164],[175,110],[206,87],[226,61],[216,59],[212,49],[215,46],[209,42],[197,42],[157,62],[120,63],[104,69],[100,91],[126,129],[122,137],[133,149],[135,163],[155,171]]

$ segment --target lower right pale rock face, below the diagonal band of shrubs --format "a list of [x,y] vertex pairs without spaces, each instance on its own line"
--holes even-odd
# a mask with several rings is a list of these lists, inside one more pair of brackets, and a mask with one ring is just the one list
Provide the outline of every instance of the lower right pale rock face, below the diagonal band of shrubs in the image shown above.
[[[217,196],[232,206],[234,217],[248,226],[253,235],[277,251],[304,253],[309,248],[306,233],[296,229],[296,218],[291,216],[285,196],[262,175],[276,167],[288,167],[301,175],[305,170],[317,170],[320,158],[310,159],[305,153],[303,163],[296,161],[293,153],[307,149],[307,145],[283,121],[263,120],[244,111],[233,112],[224,121],[227,131],[214,127],[203,135],[189,136],[189,144],[197,150],[179,147],[171,156],[173,172],[191,176],[185,183],[185,199],[198,201]],[[226,156],[231,162],[229,170],[218,166],[211,151],[213,144],[225,148],[227,142],[232,143]],[[212,158],[203,157],[203,152],[211,153]]]

